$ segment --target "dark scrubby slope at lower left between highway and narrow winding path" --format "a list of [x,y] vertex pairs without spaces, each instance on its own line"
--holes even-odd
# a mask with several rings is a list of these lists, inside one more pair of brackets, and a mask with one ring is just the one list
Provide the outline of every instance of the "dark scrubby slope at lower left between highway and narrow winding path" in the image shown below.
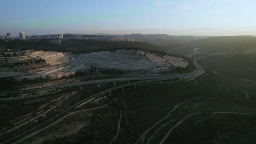
[[[84,114],[83,114],[84,113]],[[119,106],[115,101],[110,101],[110,104],[102,109],[91,110],[88,112],[81,112],[80,114],[71,115],[65,118],[65,121],[57,123],[53,128],[48,128],[45,131],[39,133],[33,139],[28,140],[28,143],[33,142],[35,139],[41,139],[46,137],[48,140],[44,140],[42,143],[108,143],[112,140],[112,137],[117,133],[117,124],[119,118]],[[75,134],[62,136],[65,125],[71,125],[67,128],[70,131],[75,131],[75,127],[72,127],[73,122],[78,122],[84,126],[77,131]],[[83,124],[85,123],[85,124]],[[73,132],[74,133],[74,132]],[[49,140],[49,135],[59,135],[53,140]]]

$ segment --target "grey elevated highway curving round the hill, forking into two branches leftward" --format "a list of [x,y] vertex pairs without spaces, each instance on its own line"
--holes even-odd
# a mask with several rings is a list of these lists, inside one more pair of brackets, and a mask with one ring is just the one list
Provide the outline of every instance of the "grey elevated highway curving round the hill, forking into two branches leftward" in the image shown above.
[[[33,128],[28,129],[24,133],[16,135],[13,138],[11,138],[9,140],[6,140],[2,143],[15,142],[16,140],[21,139],[21,137],[25,137],[27,134],[31,133],[35,129],[40,130],[39,128],[43,127],[43,125],[45,125],[45,124],[54,123],[53,119],[58,119],[58,118],[61,118],[61,117],[65,117],[66,115],[68,115],[68,114],[66,114],[67,111],[74,110],[76,107],[82,106],[83,104],[86,104],[89,101],[100,97],[104,93],[114,91],[115,89],[123,88],[123,87],[126,87],[126,86],[131,86],[131,85],[137,85],[137,84],[140,84],[140,83],[157,82],[157,81],[172,80],[172,79],[191,79],[191,78],[195,78],[197,76],[200,76],[203,73],[205,73],[205,70],[196,62],[196,60],[197,60],[197,58],[193,59],[193,62],[196,66],[196,70],[191,72],[191,73],[187,73],[187,74],[160,75],[160,76],[147,76],[147,75],[145,75],[145,76],[118,77],[118,78],[112,78],[112,79],[90,80],[90,81],[83,81],[83,82],[74,81],[74,82],[62,83],[60,85],[54,85],[54,86],[49,86],[49,87],[35,88],[35,89],[27,90],[27,91],[22,91],[22,92],[32,92],[32,91],[42,91],[42,90],[45,90],[45,89],[58,89],[58,88],[68,88],[68,87],[76,87],[76,86],[84,86],[84,85],[93,85],[93,84],[97,84],[97,83],[136,81],[136,82],[126,83],[124,85],[114,86],[112,88],[109,88],[109,89],[106,89],[104,91],[98,92],[94,95],[91,95],[89,98],[86,98],[82,101],[79,101],[79,103],[77,103],[77,104],[75,104],[71,107],[68,107],[66,110],[62,111],[61,113],[53,115],[47,121],[45,121],[41,124],[38,124],[38,125],[34,126]],[[4,94],[13,94],[13,93],[20,93],[20,92],[8,92],[8,93],[4,93]],[[22,140],[25,140],[25,139],[22,139]]]

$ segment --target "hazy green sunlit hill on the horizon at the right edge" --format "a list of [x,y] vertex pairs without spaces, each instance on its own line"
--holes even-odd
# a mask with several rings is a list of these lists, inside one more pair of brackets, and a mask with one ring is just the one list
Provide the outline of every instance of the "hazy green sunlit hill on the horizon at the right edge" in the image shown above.
[[243,52],[256,50],[256,37],[251,35],[233,37],[210,37],[194,40],[184,45],[183,52],[193,52],[197,48],[201,52]]

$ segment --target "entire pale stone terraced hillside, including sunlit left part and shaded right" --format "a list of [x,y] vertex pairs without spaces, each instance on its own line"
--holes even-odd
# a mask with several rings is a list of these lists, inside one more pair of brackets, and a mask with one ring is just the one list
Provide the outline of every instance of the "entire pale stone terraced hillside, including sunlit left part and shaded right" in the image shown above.
[[[140,56],[141,54],[141,56]],[[0,77],[15,76],[16,78],[35,79],[36,77],[51,76],[59,78],[63,75],[74,74],[78,70],[89,70],[91,65],[97,68],[121,69],[121,70],[147,70],[151,73],[171,69],[173,67],[187,67],[188,62],[183,58],[171,56],[159,56],[155,53],[146,53],[136,50],[118,50],[114,52],[101,51],[91,53],[79,53],[77,57],[72,53],[42,52],[40,56],[53,68],[42,69],[36,73],[21,73],[20,68],[4,68],[0,70]],[[166,61],[167,59],[167,61]],[[33,67],[33,65],[31,65]],[[29,69],[29,68],[27,68]]]

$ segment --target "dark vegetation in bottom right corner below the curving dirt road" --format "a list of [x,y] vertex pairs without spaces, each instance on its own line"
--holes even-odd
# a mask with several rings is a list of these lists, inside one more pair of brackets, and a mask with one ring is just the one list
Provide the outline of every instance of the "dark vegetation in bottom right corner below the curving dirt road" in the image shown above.
[[[201,120],[203,119],[203,120]],[[251,133],[256,127],[256,116],[221,114],[191,117],[174,129],[166,143],[236,143],[240,137]],[[255,135],[249,136],[245,143],[255,142]]]

